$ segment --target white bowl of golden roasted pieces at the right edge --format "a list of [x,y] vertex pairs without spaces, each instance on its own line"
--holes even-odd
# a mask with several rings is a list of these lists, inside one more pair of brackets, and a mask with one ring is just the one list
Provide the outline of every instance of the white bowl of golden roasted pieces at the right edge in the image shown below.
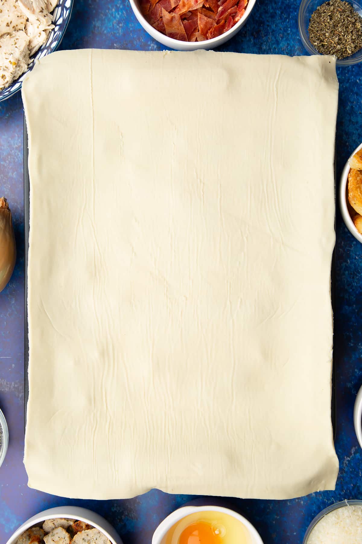
[[346,227],[362,243],[362,144],[353,151],[342,171],[339,205]]

